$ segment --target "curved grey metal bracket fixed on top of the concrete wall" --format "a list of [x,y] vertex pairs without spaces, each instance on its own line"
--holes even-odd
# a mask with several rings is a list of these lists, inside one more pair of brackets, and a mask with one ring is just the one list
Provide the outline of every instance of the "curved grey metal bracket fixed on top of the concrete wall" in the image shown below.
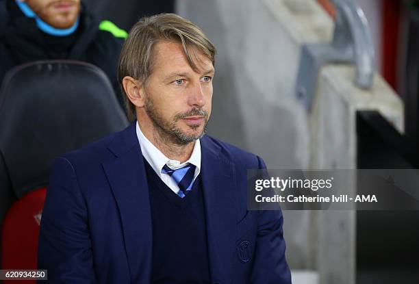
[[307,110],[312,107],[318,72],[324,64],[355,64],[355,84],[359,88],[370,88],[374,78],[374,46],[364,12],[353,0],[332,1],[336,8],[332,42],[304,44],[301,50],[296,96]]

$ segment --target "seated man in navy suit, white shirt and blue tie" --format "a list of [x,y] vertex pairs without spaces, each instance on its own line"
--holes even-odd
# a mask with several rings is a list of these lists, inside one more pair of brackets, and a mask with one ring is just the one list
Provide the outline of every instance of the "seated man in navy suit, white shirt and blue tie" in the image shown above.
[[281,211],[246,208],[246,170],[264,162],[204,135],[215,53],[174,14],[131,29],[118,77],[133,124],[53,165],[50,283],[291,283]]

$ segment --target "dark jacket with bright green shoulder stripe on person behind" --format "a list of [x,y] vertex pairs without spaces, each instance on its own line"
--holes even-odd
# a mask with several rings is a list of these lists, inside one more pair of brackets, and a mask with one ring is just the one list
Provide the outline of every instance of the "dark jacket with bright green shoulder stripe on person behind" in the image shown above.
[[123,105],[116,65],[127,36],[125,31],[109,21],[99,23],[86,5],[82,5],[77,30],[69,36],[51,36],[38,28],[34,18],[25,16],[14,0],[0,0],[0,5],[3,6],[0,14],[7,17],[0,23],[0,82],[14,66],[27,62],[79,60],[105,72]]

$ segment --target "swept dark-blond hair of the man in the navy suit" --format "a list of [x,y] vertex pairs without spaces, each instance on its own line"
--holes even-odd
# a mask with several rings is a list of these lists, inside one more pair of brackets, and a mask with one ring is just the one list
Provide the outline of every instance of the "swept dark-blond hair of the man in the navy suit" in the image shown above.
[[[145,83],[153,71],[153,47],[161,40],[179,42],[183,46],[188,63],[198,70],[192,49],[206,55],[215,64],[216,49],[203,31],[190,21],[176,14],[157,14],[141,18],[132,27],[120,53],[118,81],[122,91],[125,76]],[[130,121],[136,119],[136,107],[124,96]]]

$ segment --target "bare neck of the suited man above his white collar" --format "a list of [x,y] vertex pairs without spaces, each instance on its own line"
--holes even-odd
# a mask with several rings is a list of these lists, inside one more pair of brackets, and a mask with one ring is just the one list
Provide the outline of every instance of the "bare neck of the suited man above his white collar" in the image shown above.
[[186,145],[179,145],[174,143],[170,138],[164,137],[162,133],[156,129],[146,129],[140,124],[141,132],[144,136],[169,159],[174,159],[181,163],[188,161],[194,150],[195,142],[190,142]]

